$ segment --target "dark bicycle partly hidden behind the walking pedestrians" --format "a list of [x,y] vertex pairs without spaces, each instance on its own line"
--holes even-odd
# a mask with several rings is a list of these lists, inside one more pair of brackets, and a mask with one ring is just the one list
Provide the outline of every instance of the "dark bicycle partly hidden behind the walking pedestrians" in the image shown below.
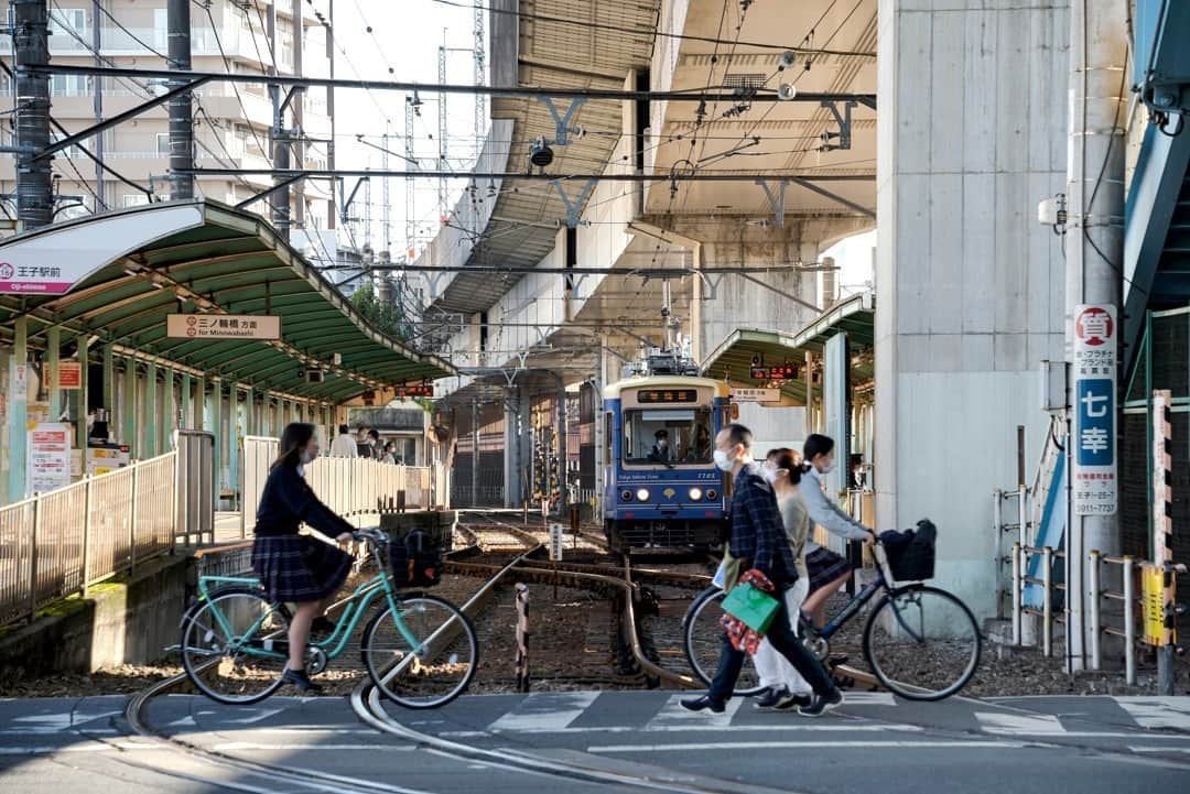
[[[979,664],[982,638],[975,616],[957,596],[939,587],[921,581],[897,586],[879,541],[872,546],[872,556],[876,576],[821,629],[801,620],[802,642],[825,661],[831,654],[831,637],[879,594],[863,636],[864,658],[872,673],[890,692],[909,700],[948,698],[966,686]],[[708,685],[719,661],[724,596],[720,588],[708,587],[694,599],[682,619],[687,661]],[[756,668],[747,661],[735,693],[759,692]]]

